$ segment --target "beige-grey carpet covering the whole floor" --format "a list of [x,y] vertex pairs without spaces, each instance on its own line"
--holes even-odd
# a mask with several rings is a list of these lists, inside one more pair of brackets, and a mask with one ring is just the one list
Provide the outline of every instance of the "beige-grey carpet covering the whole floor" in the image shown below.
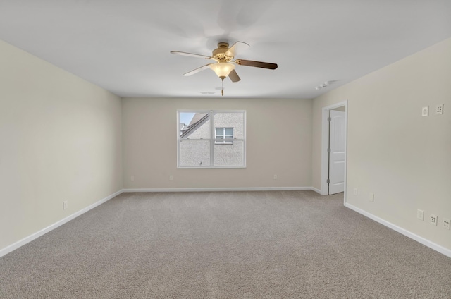
[[451,259],[311,191],[123,193],[0,258],[0,298],[451,298]]

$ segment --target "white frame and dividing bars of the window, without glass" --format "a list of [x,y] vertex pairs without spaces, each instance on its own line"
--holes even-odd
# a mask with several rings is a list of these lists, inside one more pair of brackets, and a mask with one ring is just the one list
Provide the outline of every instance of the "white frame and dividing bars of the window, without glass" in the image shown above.
[[[210,141],[210,165],[198,165],[198,166],[180,166],[180,113],[206,113],[210,114],[210,136],[214,135],[214,138],[209,139],[189,139],[189,140],[209,140]],[[243,138],[234,138],[233,141],[242,141],[243,142],[243,164],[242,165],[233,165],[233,166],[215,166],[214,165],[214,145],[216,142],[221,142],[223,139],[216,139],[216,130],[214,126],[214,114],[216,113],[242,113],[243,115]],[[202,110],[202,109],[178,109],[177,110],[177,168],[178,169],[198,169],[198,168],[246,168],[246,110]],[[219,127],[218,127],[219,128]],[[226,127],[224,127],[226,128]],[[227,127],[230,128],[230,127]],[[219,143],[221,144],[221,143]],[[228,143],[230,144],[230,143]]]

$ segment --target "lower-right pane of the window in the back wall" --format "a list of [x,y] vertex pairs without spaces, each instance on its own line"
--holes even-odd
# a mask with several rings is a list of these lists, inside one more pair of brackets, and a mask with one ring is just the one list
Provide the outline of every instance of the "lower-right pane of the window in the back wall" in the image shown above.
[[242,140],[234,140],[230,145],[214,145],[214,166],[242,166],[244,153]]

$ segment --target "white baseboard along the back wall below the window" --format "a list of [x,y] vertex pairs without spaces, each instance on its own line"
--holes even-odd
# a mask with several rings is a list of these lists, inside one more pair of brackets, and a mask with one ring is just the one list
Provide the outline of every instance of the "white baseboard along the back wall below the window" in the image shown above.
[[[132,192],[216,192],[216,191],[300,191],[314,190],[313,187],[249,187],[249,188],[135,188],[123,189]],[[316,190],[314,190],[316,191]]]

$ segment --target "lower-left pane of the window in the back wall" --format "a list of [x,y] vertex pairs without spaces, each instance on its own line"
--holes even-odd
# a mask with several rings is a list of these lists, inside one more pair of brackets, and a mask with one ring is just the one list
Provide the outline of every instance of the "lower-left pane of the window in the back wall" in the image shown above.
[[180,140],[179,166],[210,166],[210,140]]

